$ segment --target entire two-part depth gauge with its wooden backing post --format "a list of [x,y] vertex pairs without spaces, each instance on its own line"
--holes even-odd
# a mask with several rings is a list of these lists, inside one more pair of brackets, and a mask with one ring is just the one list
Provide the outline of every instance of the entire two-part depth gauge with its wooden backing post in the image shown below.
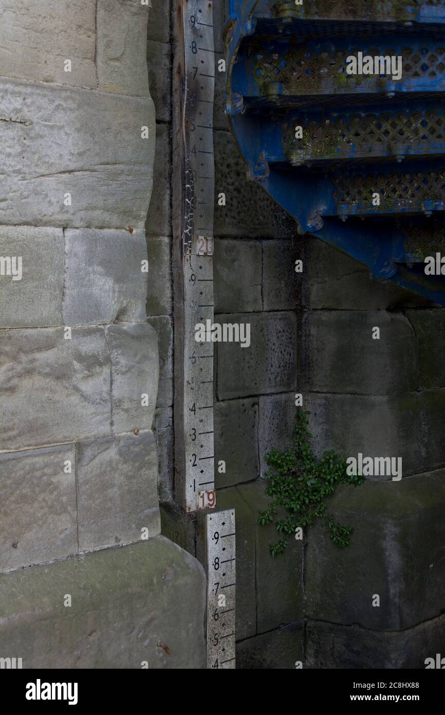
[[[222,0],[221,0],[222,1]],[[173,269],[175,497],[213,509],[214,28],[210,0],[174,0]],[[199,516],[207,570],[207,666],[235,668],[235,511]]]

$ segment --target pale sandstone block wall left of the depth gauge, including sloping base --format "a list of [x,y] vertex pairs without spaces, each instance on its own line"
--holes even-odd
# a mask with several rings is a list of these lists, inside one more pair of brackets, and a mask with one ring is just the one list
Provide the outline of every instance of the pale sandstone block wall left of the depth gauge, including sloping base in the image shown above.
[[[149,20],[136,0],[0,0],[0,651],[27,668],[205,662],[204,571],[159,536],[155,5]],[[157,185],[160,252],[167,203]]]

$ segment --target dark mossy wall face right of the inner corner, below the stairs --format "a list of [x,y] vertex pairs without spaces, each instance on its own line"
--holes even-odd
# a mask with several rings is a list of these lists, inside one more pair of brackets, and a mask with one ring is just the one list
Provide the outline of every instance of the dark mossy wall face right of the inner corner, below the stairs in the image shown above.
[[319,526],[309,535],[306,664],[424,668],[445,639],[445,312],[369,280],[319,240],[305,240],[303,255],[299,386],[314,445],[403,460],[400,481],[369,477],[334,495],[332,511],[354,527],[349,548]]

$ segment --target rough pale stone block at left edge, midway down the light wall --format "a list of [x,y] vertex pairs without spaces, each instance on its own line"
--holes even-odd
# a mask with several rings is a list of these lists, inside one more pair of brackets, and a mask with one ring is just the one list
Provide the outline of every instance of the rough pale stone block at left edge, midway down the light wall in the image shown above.
[[71,340],[62,328],[4,330],[0,449],[109,435],[109,390],[104,328],[74,328]]

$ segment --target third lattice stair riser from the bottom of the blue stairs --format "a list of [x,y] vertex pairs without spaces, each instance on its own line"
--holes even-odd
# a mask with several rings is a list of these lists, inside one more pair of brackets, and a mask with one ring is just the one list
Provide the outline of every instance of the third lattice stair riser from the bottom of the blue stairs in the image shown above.
[[381,112],[305,119],[303,138],[295,138],[294,122],[283,135],[291,164],[314,159],[388,157],[434,154],[444,149],[445,116],[441,110]]

